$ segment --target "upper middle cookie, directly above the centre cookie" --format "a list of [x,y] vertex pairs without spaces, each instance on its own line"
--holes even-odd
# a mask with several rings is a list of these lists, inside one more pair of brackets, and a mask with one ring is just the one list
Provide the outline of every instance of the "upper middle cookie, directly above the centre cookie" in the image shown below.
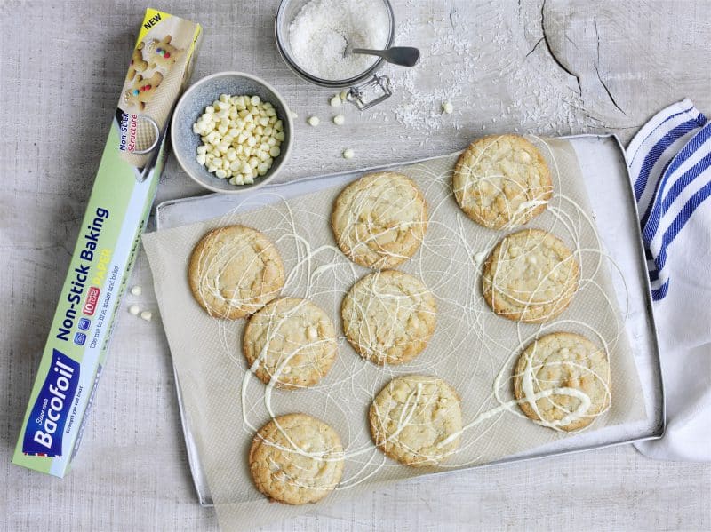
[[427,230],[427,203],[410,178],[380,171],[343,189],[336,198],[331,226],[348,258],[384,270],[418,250]]

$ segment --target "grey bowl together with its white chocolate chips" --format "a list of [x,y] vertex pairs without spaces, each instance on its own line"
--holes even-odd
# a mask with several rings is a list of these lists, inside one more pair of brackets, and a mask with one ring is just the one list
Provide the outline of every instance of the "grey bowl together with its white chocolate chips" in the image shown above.
[[172,150],[198,184],[236,194],[273,179],[289,158],[292,114],[268,83],[220,72],[194,83],[175,107]]

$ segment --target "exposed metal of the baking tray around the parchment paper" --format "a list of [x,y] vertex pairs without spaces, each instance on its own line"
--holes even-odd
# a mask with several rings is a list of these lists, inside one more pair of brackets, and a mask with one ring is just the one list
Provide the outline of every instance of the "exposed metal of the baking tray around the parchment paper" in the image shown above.
[[[579,433],[553,441],[536,449],[483,465],[504,464],[518,460],[549,457],[590,449],[601,449],[633,441],[660,438],[665,429],[664,388],[659,364],[659,346],[651,312],[651,295],[646,260],[638,223],[635,195],[627,172],[625,151],[616,135],[575,135],[561,137],[571,142],[578,155],[580,170],[595,215],[597,231],[603,248],[614,258],[617,270],[612,271],[612,282],[623,309],[623,319],[635,356],[639,379],[643,388],[647,418],[642,421]],[[414,161],[400,161],[357,171],[345,171],[323,176],[293,180],[281,185],[261,187],[243,195],[201,195],[169,200],[156,207],[156,229],[215,218],[230,211],[252,210],[262,205],[315,192],[322,188],[343,186],[366,171],[381,171],[435,159],[428,157]],[[273,195],[268,194],[273,192]],[[626,308],[627,307],[627,308]],[[625,312],[627,310],[627,312]],[[212,506],[212,496],[196,443],[182,403],[180,381],[175,375],[176,391],[183,434],[188,451],[188,462],[200,504]],[[427,474],[448,474],[432,472]]]

